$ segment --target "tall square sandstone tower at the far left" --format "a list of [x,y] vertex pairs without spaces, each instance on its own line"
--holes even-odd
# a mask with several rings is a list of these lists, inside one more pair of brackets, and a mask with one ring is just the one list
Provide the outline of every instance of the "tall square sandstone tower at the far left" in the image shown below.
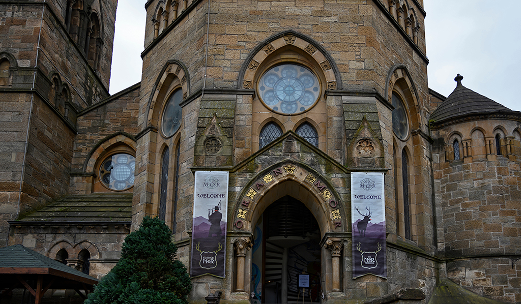
[[78,113],[109,96],[117,1],[0,4],[0,244],[69,193]]

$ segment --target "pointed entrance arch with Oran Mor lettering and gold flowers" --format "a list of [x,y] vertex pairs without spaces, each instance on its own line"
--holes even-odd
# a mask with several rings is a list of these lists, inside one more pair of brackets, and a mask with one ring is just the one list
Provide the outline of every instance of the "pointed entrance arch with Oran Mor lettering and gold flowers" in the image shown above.
[[346,208],[331,183],[306,164],[288,160],[266,168],[246,184],[233,206],[230,229],[253,232],[252,223],[284,195],[303,202],[317,220],[322,237],[348,231]]

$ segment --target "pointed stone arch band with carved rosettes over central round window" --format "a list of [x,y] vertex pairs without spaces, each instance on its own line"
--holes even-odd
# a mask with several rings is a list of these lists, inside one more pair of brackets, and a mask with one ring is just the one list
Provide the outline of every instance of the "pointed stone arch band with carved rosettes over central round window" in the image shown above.
[[327,90],[341,90],[342,81],[340,71],[334,59],[327,53],[326,49],[311,38],[295,32],[284,31],[273,35],[258,44],[244,61],[239,73],[238,88],[254,88],[256,70],[271,53],[286,47],[294,46],[300,52],[311,56],[324,71]]

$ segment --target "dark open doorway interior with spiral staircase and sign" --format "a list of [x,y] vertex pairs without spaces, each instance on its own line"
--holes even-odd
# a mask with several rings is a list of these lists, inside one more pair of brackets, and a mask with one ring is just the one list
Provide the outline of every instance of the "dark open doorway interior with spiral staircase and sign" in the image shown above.
[[[252,303],[320,302],[320,230],[301,201],[284,196],[273,202],[254,239]],[[308,288],[299,288],[300,274],[309,275]]]

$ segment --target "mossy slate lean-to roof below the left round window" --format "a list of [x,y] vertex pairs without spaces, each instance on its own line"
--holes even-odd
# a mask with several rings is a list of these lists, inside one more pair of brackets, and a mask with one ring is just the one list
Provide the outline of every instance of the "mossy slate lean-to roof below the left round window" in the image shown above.
[[18,222],[130,222],[132,193],[66,196]]

